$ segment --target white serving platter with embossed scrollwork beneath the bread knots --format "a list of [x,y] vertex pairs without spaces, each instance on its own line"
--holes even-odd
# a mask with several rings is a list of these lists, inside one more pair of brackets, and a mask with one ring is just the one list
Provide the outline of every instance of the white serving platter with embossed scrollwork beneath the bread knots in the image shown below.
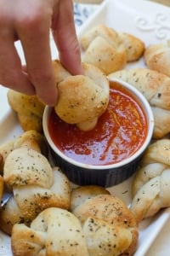
[[[144,41],[145,46],[166,41],[170,38],[170,9],[160,4],[144,0],[105,0],[82,26],[77,26],[77,34],[81,36],[92,26],[105,24],[119,32],[129,32]],[[169,38],[168,38],[169,36]],[[20,43],[16,44],[22,62],[25,62]],[[58,56],[54,41],[51,38],[53,58]],[[129,67],[144,67],[144,60],[133,62]],[[18,137],[23,131],[15,113],[9,108],[7,89],[0,85],[0,144],[11,138]],[[133,177],[127,181],[109,188],[112,194],[131,203],[131,185]],[[146,255],[156,236],[167,223],[170,210],[165,209],[154,218],[144,220],[139,224],[139,246],[135,256]],[[0,231],[0,255],[11,256],[10,237]]]

